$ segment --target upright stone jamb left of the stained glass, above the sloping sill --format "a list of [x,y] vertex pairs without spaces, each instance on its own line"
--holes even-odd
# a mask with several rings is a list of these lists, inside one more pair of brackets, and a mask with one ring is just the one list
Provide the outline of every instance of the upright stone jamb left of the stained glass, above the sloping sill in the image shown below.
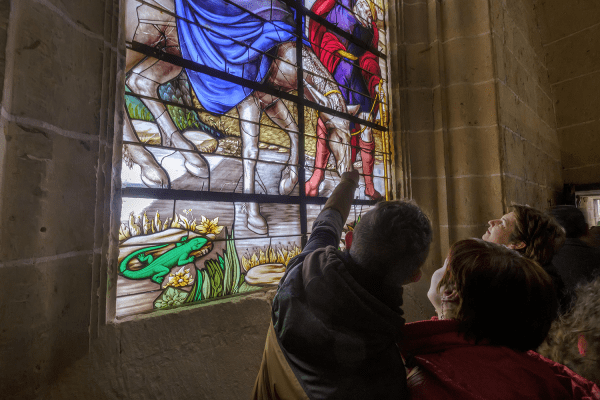
[[118,3],[10,2],[0,114],[0,393],[16,398],[43,397],[88,351],[98,325],[90,310],[107,260],[116,62],[124,54]]

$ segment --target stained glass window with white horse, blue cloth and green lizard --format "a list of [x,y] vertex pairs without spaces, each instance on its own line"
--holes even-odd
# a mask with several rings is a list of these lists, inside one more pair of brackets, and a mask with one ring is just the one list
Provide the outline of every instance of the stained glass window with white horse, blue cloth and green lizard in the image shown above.
[[125,5],[117,317],[277,284],[344,171],[346,231],[390,195],[384,0]]

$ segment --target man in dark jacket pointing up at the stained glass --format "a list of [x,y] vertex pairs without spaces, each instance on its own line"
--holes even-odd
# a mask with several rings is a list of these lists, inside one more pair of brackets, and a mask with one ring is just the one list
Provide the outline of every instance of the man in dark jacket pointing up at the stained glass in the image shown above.
[[358,178],[342,174],[304,250],[288,264],[253,399],[408,397],[396,347],[402,285],[420,277],[431,224],[412,202],[380,202],[356,225],[350,249],[338,250]]

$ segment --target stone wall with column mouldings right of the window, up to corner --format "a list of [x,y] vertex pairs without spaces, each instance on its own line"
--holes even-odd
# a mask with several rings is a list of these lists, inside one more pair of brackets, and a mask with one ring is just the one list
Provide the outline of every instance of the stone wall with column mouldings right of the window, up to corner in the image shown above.
[[539,15],[524,0],[405,0],[399,88],[402,194],[430,215],[434,245],[420,307],[449,245],[481,237],[513,203],[542,209],[562,190],[560,145]]

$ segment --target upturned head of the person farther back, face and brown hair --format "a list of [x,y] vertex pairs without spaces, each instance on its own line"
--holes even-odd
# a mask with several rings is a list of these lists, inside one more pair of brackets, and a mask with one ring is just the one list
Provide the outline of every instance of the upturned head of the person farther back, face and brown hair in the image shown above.
[[527,258],[548,264],[565,241],[564,229],[549,214],[527,205],[515,204],[513,211],[488,222],[482,239],[502,244]]

